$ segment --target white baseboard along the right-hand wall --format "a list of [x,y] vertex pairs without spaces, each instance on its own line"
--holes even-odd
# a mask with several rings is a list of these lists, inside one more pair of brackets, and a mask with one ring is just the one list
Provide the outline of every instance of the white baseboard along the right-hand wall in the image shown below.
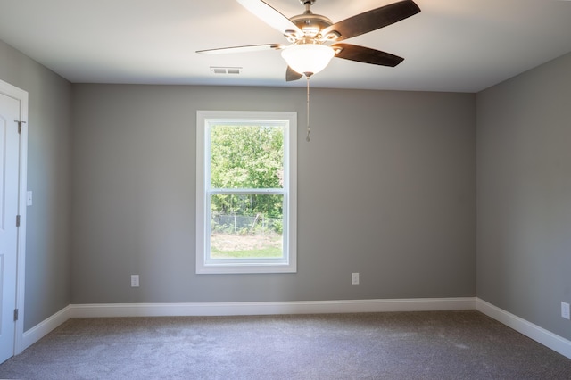
[[476,310],[571,359],[571,341],[479,298],[476,299]]

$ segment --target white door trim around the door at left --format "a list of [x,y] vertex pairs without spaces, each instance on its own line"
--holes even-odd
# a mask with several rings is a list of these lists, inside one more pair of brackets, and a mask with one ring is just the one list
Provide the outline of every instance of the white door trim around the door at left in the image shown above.
[[16,309],[18,320],[15,326],[14,355],[24,350],[24,290],[26,275],[26,192],[28,189],[28,92],[0,80],[0,94],[12,97],[20,103],[20,120],[22,123],[20,134],[20,170],[18,173],[18,214],[20,227],[18,228],[18,244],[16,252]]

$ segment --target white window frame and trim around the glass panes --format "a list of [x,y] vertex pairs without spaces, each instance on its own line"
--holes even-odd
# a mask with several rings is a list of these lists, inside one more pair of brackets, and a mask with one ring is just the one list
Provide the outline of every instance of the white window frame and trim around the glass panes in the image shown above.
[[[211,259],[210,252],[210,133],[220,121],[269,122],[284,126],[284,258],[260,260]],[[260,191],[252,189],[249,193]],[[259,194],[272,194],[261,190]],[[295,273],[297,272],[297,112],[197,111],[196,112],[196,273]]]

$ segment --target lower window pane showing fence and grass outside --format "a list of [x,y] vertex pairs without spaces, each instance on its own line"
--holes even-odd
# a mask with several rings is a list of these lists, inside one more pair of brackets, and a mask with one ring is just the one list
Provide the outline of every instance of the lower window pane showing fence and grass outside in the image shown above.
[[211,195],[211,260],[284,257],[284,196]]

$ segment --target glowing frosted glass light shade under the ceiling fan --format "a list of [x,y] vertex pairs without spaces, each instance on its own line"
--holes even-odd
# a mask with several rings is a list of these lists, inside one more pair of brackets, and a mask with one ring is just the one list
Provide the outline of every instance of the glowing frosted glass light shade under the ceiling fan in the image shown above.
[[292,45],[282,52],[285,62],[293,70],[310,77],[325,69],[335,51],[327,45]]

